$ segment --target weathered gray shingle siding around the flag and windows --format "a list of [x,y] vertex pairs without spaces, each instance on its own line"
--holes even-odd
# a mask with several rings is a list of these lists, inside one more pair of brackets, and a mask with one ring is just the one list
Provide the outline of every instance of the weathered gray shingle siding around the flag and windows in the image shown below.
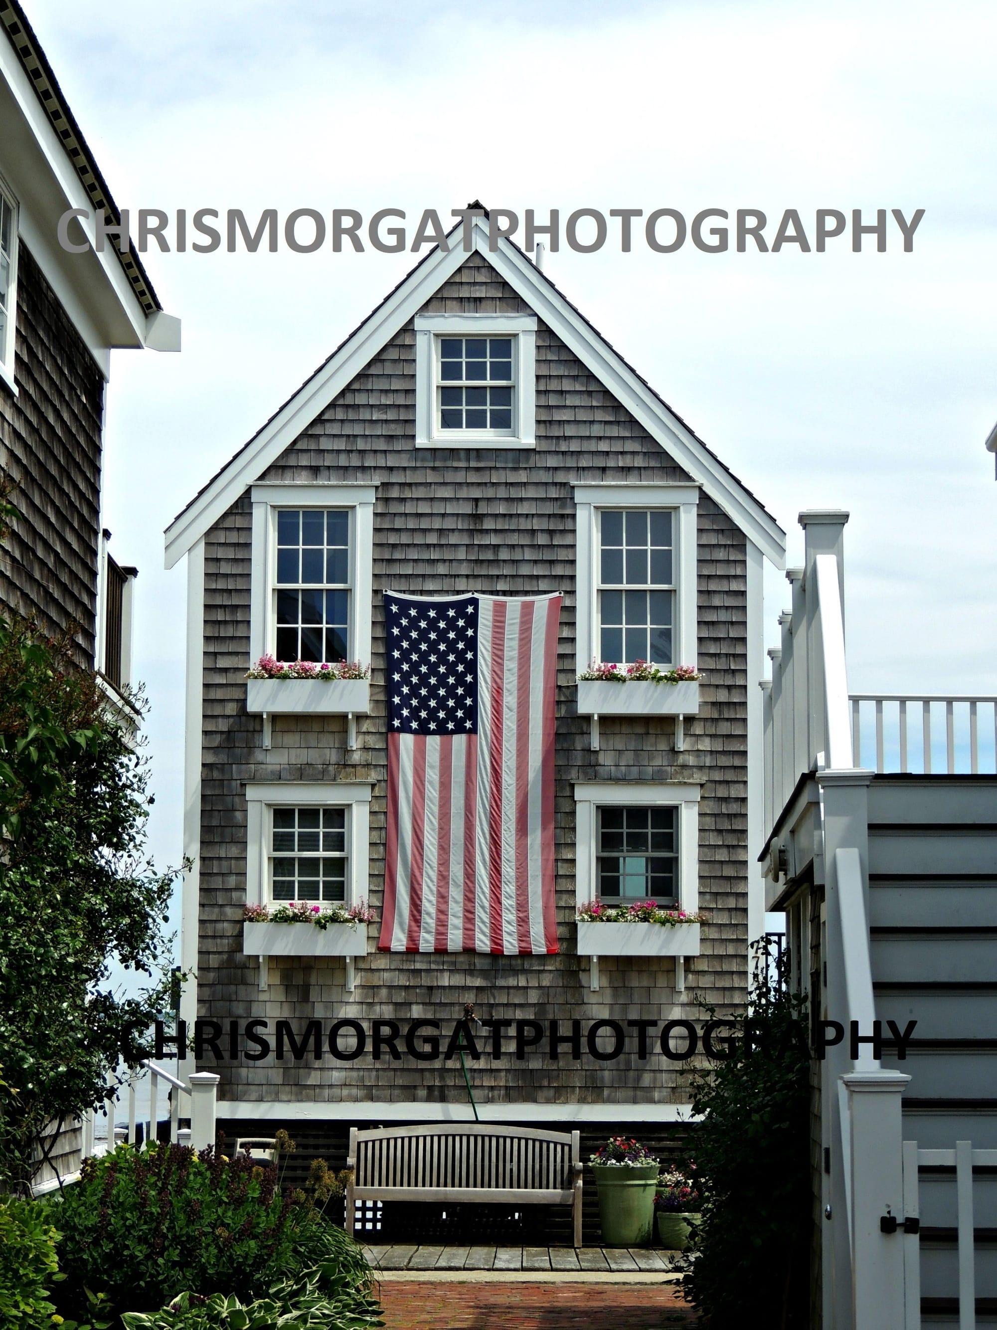
[[[425,306],[447,313],[522,311],[487,261],[468,258]],[[746,549],[742,532],[709,499],[699,503],[699,665],[706,672],[686,749],[673,749],[669,720],[601,721],[601,749],[574,714],[576,508],[570,481],[685,480],[687,476],[541,325],[537,331],[536,450],[416,451],[415,334],[408,325],[261,479],[378,481],[374,517],[371,716],[346,749],[344,718],[275,717],[273,747],[261,718],[245,712],[249,658],[250,500],[243,495],[206,537],[203,802],[201,829],[199,1013],[324,1023],[355,1017],[448,1023],[475,1001],[480,1016],[697,1017],[694,994],[720,1009],[746,996]],[[380,911],[384,875],[386,722],[383,588],[415,595],[481,591],[565,595],[558,648],[557,956],[392,955],[356,962],[356,988],[342,962],[271,960],[258,988],[255,959],[241,954],[246,899],[247,781],[370,779],[371,903]],[[687,962],[685,1000],[671,963],[600,964],[600,991],[574,955],[574,781],[705,781],[699,806],[699,900],[709,912],[703,955]],[[372,946],[374,935],[372,930]],[[681,995],[679,995],[681,996]],[[213,1065],[213,1059],[203,1064]],[[558,1065],[529,1057],[473,1063],[481,1101],[657,1103],[687,1096],[661,1055]],[[449,1063],[355,1063],[296,1067],[273,1060],[219,1068],[223,1099],[464,1099]],[[237,1091],[238,1087],[238,1091]]]

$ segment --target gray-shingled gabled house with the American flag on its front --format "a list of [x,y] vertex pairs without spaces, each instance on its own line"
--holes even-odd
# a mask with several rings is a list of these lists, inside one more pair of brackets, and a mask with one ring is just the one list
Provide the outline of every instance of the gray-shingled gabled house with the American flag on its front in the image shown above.
[[[222,1077],[226,1133],[283,1125],[336,1157],[350,1125],[468,1119],[453,1035],[465,1003],[483,1021],[467,1027],[465,1059],[483,1119],[666,1133],[683,1092],[662,1028],[699,1016],[694,995],[743,1004],[748,940],[764,931],[772,517],[521,250],[489,251],[477,222],[471,251],[455,239],[423,259],[175,519],[167,565],[185,555],[183,1001],[189,1024],[225,1036],[202,1043],[198,1067]],[[392,940],[389,718],[405,689],[386,613],[428,634],[433,605],[452,613],[455,597],[484,616],[489,597],[553,614],[558,596],[550,934],[533,950],[508,931]],[[370,664],[370,677],[247,678],[261,657],[358,662],[356,676]],[[578,681],[593,661],[638,658],[701,678]],[[509,854],[534,853],[517,831]],[[654,898],[702,923],[623,924],[619,943],[611,926],[578,924],[593,898]],[[291,899],[367,900],[380,931],[254,923]],[[292,1056],[287,1031],[310,1020],[319,1056]],[[403,1043],[412,1021],[437,1023],[435,1059],[432,1024]]]

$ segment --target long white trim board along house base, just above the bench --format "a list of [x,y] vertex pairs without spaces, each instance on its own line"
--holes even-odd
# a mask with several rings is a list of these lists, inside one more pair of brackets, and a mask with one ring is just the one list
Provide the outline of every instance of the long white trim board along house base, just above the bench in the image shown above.
[[[237,1121],[473,1123],[471,1104],[376,1100],[219,1100],[218,1117]],[[695,1123],[689,1104],[479,1104],[483,1123]]]

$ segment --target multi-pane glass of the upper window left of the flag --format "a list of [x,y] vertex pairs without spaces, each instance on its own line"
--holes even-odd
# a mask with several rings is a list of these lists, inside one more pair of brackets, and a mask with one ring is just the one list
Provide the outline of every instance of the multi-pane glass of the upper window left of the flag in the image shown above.
[[348,658],[348,509],[277,511],[275,621],[278,660]]

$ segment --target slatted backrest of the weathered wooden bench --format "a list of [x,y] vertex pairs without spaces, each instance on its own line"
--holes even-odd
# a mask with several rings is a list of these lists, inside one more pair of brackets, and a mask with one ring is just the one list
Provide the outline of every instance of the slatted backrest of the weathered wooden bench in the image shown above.
[[356,1133],[356,1185],[447,1190],[564,1190],[572,1137],[562,1133],[444,1130]]

